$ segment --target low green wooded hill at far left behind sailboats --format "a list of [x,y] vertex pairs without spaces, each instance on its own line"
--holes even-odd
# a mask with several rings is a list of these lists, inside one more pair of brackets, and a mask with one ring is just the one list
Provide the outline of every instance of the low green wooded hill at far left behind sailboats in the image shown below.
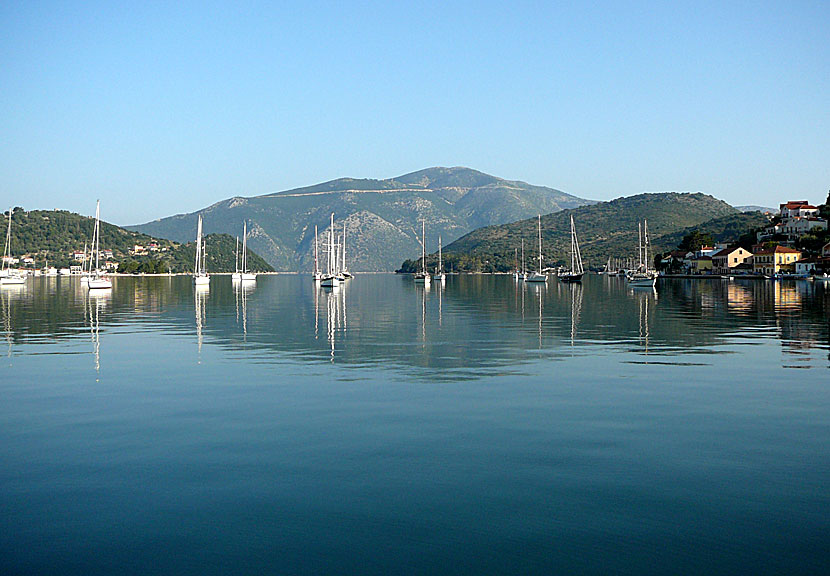
[[[0,227],[5,231],[8,226],[6,214],[0,215]],[[16,209],[12,216],[12,255],[19,257],[29,255],[35,259],[37,266],[43,266],[48,260],[51,266],[69,266],[77,264],[73,252],[82,252],[84,243],[92,239],[95,219],[65,210],[31,210]],[[179,244],[170,240],[155,238],[125,230],[114,224],[101,222],[102,250],[112,250],[113,260],[120,269],[134,262],[142,270],[189,272],[193,270],[196,258],[195,241]],[[195,234],[194,234],[195,236]],[[208,270],[213,272],[231,272],[234,269],[234,249],[236,240],[226,234],[210,235],[207,242]],[[135,245],[148,247],[156,244],[155,251],[146,254],[132,254]],[[250,249],[248,250],[250,268],[257,272],[272,271],[273,268]],[[152,263],[153,266],[148,268]]]

